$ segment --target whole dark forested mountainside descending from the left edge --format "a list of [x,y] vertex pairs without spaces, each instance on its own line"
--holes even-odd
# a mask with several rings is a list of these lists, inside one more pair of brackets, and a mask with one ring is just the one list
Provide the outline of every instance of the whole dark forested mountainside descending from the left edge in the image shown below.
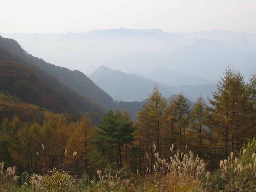
[[[101,68],[105,68],[105,72],[112,71],[103,66]],[[140,78],[148,81],[146,78]],[[15,40],[1,36],[0,81],[0,93],[14,95],[22,102],[57,113],[74,114],[77,117],[85,112],[90,118],[97,118],[98,121],[109,108],[127,108],[133,118],[136,118],[137,111],[148,97],[146,94],[142,102],[114,101],[82,72],[34,57]],[[150,89],[153,86],[152,84]],[[167,94],[171,95],[172,92]]]

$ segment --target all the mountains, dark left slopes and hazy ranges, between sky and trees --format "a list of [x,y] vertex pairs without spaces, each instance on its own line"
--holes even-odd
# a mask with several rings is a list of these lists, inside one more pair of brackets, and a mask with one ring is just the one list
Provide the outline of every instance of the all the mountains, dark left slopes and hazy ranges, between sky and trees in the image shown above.
[[[0,92],[77,116],[85,112],[102,116],[109,108],[127,108],[135,117],[155,84],[166,98],[182,91],[192,102],[200,95],[207,100],[228,65],[239,70],[245,81],[256,65],[255,34],[249,33],[120,28],[4,36],[16,36],[30,53],[62,67],[0,36],[0,73],[10,80]],[[85,73],[90,70],[84,67],[94,72],[88,77]],[[18,84],[23,87],[20,92]],[[58,102],[53,105],[54,101]]]

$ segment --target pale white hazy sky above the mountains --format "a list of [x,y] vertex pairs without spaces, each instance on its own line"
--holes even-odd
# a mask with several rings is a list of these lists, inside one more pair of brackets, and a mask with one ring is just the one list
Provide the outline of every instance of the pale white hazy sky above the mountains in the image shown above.
[[2,33],[161,28],[256,32],[256,0],[1,0]]

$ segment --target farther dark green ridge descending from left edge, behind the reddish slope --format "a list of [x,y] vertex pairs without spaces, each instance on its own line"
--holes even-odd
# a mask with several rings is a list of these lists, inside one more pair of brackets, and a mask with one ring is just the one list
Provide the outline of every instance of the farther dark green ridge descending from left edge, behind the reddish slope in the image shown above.
[[38,64],[48,74],[54,75],[59,81],[69,85],[74,90],[93,98],[101,105],[107,108],[116,108],[114,100],[82,72],[78,70],[72,71],[65,67],[56,66],[37,57],[33,57],[32,55],[27,54],[13,39],[7,39],[0,36],[0,46],[6,47],[24,60]]

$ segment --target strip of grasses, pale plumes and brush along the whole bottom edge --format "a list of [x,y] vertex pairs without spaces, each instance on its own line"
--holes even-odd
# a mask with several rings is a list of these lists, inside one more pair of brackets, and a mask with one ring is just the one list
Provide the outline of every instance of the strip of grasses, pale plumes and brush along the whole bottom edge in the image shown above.
[[[80,179],[55,168],[44,176],[28,175],[24,184],[18,185],[15,167],[4,171],[1,168],[1,191],[38,191],[38,192],[201,192],[256,191],[256,141],[252,140],[239,153],[230,153],[227,159],[220,160],[219,169],[213,173],[206,171],[203,159],[190,151],[188,154],[177,153],[166,159],[159,158],[154,145],[154,170],[149,168],[146,175],[139,171],[132,174],[128,166],[121,169],[108,165],[104,171],[98,170],[97,177],[90,178],[86,172]],[[173,151],[173,147],[170,148]],[[148,158],[148,155],[145,155]]]

